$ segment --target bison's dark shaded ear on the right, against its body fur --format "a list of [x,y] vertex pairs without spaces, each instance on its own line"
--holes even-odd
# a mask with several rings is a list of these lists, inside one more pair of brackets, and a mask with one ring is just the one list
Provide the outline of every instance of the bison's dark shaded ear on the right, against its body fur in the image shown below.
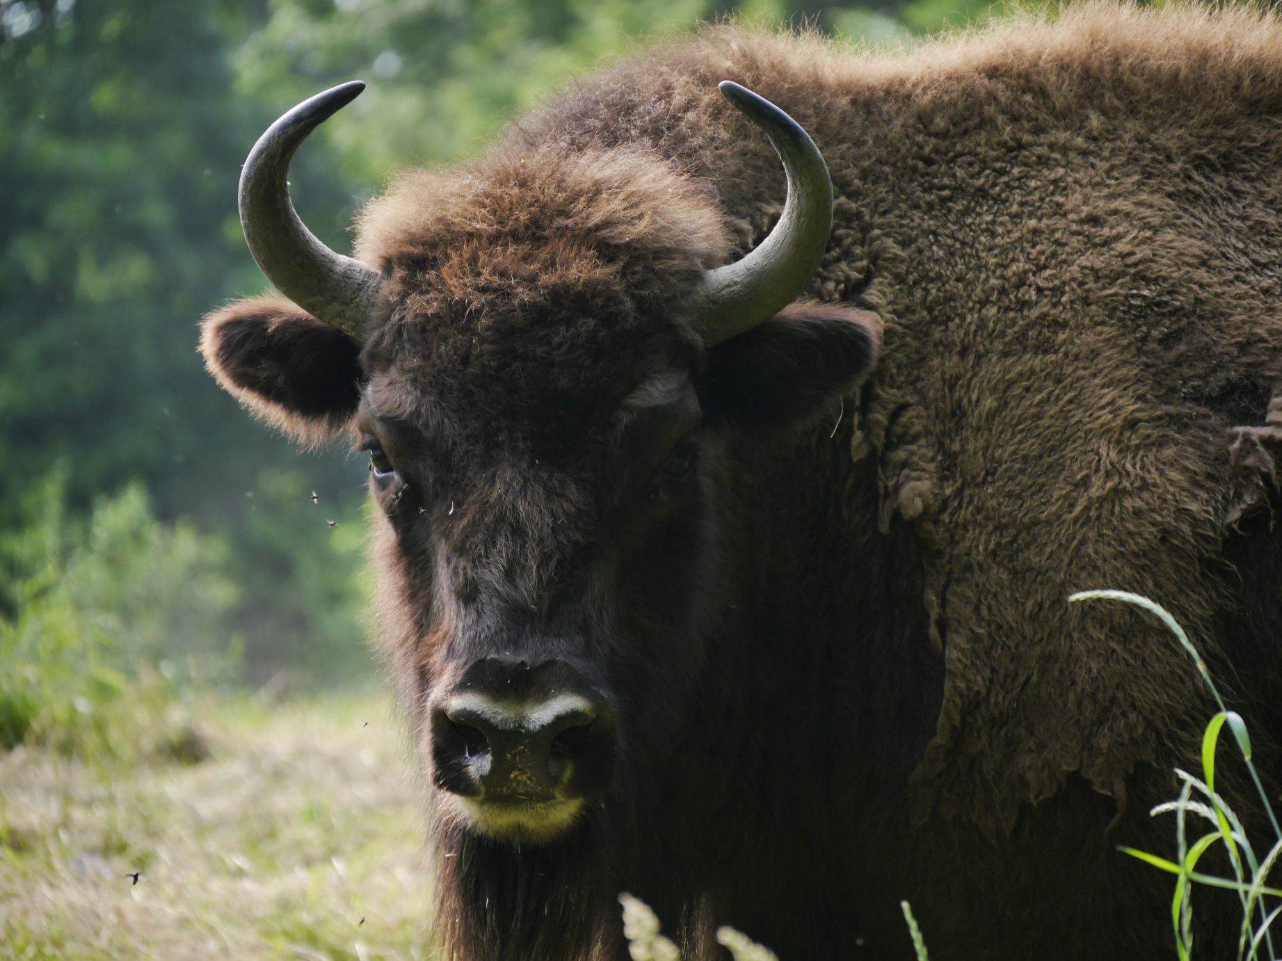
[[747,429],[786,427],[844,393],[877,360],[881,320],[832,304],[792,304],[708,351],[704,410]]

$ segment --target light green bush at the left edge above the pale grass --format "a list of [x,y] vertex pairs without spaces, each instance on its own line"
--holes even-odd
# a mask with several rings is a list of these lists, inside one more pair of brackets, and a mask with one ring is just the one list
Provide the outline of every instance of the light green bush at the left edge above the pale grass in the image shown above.
[[226,547],[156,520],[140,484],[81,522],[64,492],[54,472],[0,534],[0,747],[136,753],[163,732],[182,682],[231,669]]

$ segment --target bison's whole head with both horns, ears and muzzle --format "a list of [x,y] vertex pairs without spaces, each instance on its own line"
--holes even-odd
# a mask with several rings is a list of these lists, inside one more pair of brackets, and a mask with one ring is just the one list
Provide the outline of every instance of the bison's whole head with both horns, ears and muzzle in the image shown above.
[[301,105],[246,163],[246,234],[294,304],[217,311],[201,347],[255,411],[369,456],[382,650],[440,832],[565,839],[636,806],[715,697],[709,639],[751,583],[747,455],[862,377],[877,328],[790,305],[831,185],[765,101],[740,106],[788,202],[717,267],[708,182],[558,147],[403,177],[365,210],[359,259],[338,258],[294,215],[285,165],[351,96]]

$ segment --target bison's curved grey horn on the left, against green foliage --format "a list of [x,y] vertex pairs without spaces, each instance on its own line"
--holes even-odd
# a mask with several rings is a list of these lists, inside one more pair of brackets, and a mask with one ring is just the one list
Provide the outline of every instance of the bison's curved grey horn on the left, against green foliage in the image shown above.
[[241,229],[267,279],[309,314],[349,334],[373,306],[379,277],[315,238],[294,211],[286,178],[299,145],[364,88],[360,81],[342,83],[285,114],[258,138],[240,182]]

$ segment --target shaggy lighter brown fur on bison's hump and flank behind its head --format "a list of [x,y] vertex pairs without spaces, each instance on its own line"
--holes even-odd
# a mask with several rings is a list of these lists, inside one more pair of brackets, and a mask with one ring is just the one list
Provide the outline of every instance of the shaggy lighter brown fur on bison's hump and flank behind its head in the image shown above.
[[1215,637],[1197,571],[1260,492],[1226,432],[1282,388],[1282,29],[1083,5],[877,58],[714,29],[523,132],[654,145],[758,237],[779,172],[723,77],[823,150],[838,222],[814,290],[887,324],[855,452],[878,457],[883,522],[927,548],[938,801],[1009,829],[1067,774],[1111,792],[1190,743],[1204,700],[1158,628],[1064,597],[1124,587]]

